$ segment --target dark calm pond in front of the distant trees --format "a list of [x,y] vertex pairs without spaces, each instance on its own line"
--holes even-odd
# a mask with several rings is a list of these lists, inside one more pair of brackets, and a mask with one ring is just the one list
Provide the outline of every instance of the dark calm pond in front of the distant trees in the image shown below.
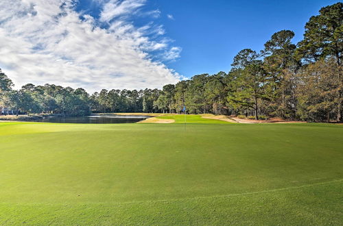
[[137,123],[149,116],[140,115],[91,115],[82,117],[47,117],[38,120],[44,123]]

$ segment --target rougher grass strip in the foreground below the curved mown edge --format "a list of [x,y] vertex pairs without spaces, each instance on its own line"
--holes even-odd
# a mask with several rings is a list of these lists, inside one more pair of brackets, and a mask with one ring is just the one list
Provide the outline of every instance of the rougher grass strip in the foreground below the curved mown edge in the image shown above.
[[206,199],[113,204],[0,203],[1,225],[342,225],[343,183]]

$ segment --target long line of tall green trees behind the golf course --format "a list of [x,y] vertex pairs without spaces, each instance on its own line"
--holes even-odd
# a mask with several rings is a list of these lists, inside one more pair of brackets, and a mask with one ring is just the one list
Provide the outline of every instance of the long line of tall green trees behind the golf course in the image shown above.
[[[342,121],[343,3],[320,9],[305,25],[303,40],[276,32],[264,49],[243,49],[228,73],[195,75],[159,89],[101,90],[27,84],[12,90],[0,71],[0,108],[21,112],[88,115],[91,112],[235,114],[256,119]],[[1,112],[1,111],[0,111]]]

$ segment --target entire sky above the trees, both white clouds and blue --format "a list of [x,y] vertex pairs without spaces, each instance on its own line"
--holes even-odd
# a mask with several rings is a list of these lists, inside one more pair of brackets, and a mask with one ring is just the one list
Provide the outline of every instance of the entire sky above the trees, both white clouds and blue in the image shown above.
[[162,88],[228,72],[238,51],[263,49],[281,29],[294,42],[318,10],[338,1],[0,1],[0,68],[24,84]]

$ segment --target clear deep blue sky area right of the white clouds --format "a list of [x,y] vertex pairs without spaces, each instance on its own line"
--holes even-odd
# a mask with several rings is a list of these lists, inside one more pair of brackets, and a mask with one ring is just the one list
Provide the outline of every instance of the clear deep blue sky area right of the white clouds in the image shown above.
[[151,5],[174,21],[161,16],[167,35],[182,47],[180,59],[168,65],[191,77],[200,73],[228,72],[238,51],[263,49],[263,44],[281,29],[303,38],[304,26],[320,8],[338,1],[230,1],[153,0]]

